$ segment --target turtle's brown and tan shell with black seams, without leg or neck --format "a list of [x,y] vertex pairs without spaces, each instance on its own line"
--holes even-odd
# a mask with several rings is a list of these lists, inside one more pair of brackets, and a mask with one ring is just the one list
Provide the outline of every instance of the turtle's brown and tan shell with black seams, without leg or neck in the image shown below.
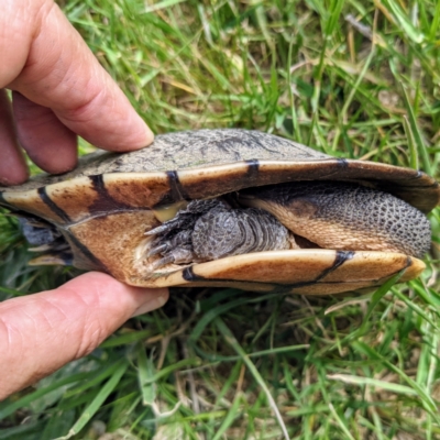
[[294,180],[356,182],[425,213],[440,200],[438,183],[422,172],[334,158],[272,134],[226,129],[158,135],[150,147],[125,154],[92,153],[70,173],[0,187],[0,205],[54,224],[69,243],[76,267],[103,271],[135,286],[323,295],[371,289],[403,270],[400,279],[411,279],[425,268],[400,253],[308,249],[152,271],[144,233],[179,204]]

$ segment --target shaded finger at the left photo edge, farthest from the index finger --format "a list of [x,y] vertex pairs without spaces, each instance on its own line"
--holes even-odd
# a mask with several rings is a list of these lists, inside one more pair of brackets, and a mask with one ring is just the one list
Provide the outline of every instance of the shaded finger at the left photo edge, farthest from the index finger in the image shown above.
[[22,184],[29,177],[26,163],[16,142],[11,105],[0,89],[0,185]]

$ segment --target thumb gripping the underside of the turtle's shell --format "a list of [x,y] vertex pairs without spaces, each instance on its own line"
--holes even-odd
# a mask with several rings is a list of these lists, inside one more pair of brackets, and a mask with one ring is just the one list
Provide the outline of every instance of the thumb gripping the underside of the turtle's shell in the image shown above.
[[90,353],[131,316],[163,306],[167,296],[166,289],[88,273],[55,290],[0,304],[0,399]]

